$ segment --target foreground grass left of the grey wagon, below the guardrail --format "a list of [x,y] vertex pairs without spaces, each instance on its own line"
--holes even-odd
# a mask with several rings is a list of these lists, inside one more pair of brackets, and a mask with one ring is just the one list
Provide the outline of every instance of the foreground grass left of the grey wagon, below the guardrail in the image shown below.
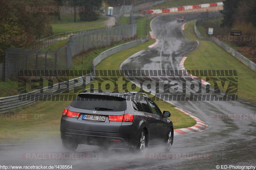
[[47,141],[49,139],[60,140],[61,113],[69,103],[70,101],[36,102],[12,116],[18,120],[11,119],[8,114],[0,114],[0,144],[48,143],[54,142]]

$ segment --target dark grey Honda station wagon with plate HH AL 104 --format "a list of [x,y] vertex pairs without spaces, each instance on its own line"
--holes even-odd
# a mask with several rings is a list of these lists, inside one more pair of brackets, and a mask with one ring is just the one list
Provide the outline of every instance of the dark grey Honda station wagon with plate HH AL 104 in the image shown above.
[[60,133],[64,149],[78,144],[121,147],[144,152],[164,144],[169,151],[173,124],[145,93],[86,89],[63,110]]

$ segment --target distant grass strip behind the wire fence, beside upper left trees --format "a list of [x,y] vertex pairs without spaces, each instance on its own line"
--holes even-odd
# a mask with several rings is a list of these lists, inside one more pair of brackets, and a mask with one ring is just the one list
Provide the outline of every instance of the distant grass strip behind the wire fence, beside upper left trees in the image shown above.
[[56,33],[65,33],[69,31],[78,31],[84,29],[92,29],[96,27],[106,26],[104,21],[107,20],[105,17],[100,17],[96,21],[91,22],[59,22],[57,24],[52,24],[52,31],[54,34]]

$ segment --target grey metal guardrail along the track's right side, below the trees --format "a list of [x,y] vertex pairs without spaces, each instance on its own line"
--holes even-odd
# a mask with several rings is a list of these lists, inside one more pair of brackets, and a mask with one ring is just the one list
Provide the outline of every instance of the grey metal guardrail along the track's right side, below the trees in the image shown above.
[[236,57],[239,61],[241,61],[242,63],[244,63],[246,66],[248,66],[250,69],[252,69],[253,71],[256,72],[256,64],[253,63],[251,60],[247,59],[244,55],[238,53],[236,50],[234,50],[233,48],[229,47],[227,44],[221,42],[219,39],[217,39],[216,37],[212,37],[212,38],[205,38],[203,36],[201,36],[201,34],[199,33],[199,31],[196,28],[196,22],[195,22],[195,26],[194,26],[194,30],[196,33],[196,36],[200,39],[200,40],[204,40],[204,41],[213,41],[216,44],[218,44],[221,48],[223,48],[224,50],[226,50],[229,54],[233,55],[234,57]]

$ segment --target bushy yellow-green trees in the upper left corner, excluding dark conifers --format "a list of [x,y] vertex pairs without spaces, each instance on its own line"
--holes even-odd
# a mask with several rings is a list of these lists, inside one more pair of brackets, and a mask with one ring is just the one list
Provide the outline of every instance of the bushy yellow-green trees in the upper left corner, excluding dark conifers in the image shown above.
[[0,1],[0,62],[3,62],[4,50],[14,47],[28,47],[32,41],[11,40],[8,36],[24,35],[34,38],[52,35],[49,13],[24,12],[26,6],[53,5],[52,0],[1,0]]

